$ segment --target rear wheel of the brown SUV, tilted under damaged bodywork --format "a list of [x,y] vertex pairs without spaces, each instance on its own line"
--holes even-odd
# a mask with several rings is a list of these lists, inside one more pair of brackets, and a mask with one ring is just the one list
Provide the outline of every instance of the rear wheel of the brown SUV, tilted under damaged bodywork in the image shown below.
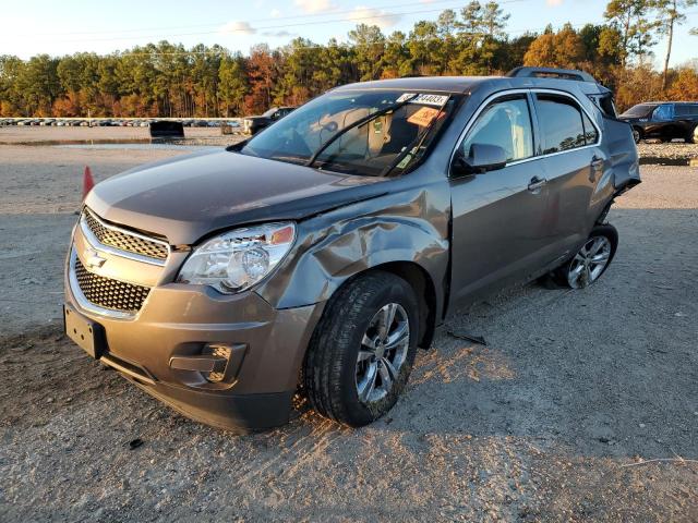
[[[597,247],[599,251],[594,252]],[[616,228],[609,223],[595,226],[575,256],[553,271],[553,279],[562,287],[585,289],[598,281],[606,271],[617,247]],[[605,255],[605,258],[601,258],[601,255]],[[594,259],[597,262],[593,262]],[[603,264],[599,263],[601,260]]]

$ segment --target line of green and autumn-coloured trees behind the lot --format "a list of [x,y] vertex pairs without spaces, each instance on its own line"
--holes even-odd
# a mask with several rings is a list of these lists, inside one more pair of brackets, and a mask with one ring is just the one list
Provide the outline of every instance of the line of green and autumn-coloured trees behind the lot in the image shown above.
[[[337,85],[407,75],[502,74],[518,65],[583,69],[621,109],[649,99],[698,99],[698,65],[670,69],[676,27],[698,0],[611,0],[605,23],[513,36],[494,1],[471,1],[406,34],[359,24],[349,42],[296,38],[249,56],[160,41],[110,54],[0,56],[2,117],[234,117],[300,105]],[[691,32],[696,34],[696,29]],[[666,39],[663,69],[653,47]],[[698,42],[696,38],[693,42]]]

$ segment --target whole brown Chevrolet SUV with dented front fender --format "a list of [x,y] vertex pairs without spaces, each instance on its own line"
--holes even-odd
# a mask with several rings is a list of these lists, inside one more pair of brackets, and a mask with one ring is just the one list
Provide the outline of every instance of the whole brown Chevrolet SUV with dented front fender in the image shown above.
[[586,287],[613,257],[630,129],[594,82],[527,74],[339,87],[238,146],[98,184],[68,335],[212,425],[282,424],[299,386],[370,423],[449,312],[546,272]]

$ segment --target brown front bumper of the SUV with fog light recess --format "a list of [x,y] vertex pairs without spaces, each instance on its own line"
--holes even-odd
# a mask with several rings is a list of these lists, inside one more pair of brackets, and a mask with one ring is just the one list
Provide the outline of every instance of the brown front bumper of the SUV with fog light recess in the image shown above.
[[[65,275],[65,300],[104,328],[101,362],[182,414],[216,427],[258,430],[289,419],[305,349],[324,304],[275,309],[254,292],[154,287],[141,311],[110,317],[85,308]],[[82,296],[80,296],[82,297]],[[181,368],[207,348],[233,348],[225,377]],[[174,360],[173,360],[174,358]]]

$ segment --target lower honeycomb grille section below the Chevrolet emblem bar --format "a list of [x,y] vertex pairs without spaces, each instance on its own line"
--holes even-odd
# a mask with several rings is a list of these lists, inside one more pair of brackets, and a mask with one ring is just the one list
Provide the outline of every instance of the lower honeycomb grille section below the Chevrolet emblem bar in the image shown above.
[[134,285],[88,272],[77,257],[75,257],[75,278],[80,290],[89,302],[112,311],[136,313],[151,292],[147,287]]

